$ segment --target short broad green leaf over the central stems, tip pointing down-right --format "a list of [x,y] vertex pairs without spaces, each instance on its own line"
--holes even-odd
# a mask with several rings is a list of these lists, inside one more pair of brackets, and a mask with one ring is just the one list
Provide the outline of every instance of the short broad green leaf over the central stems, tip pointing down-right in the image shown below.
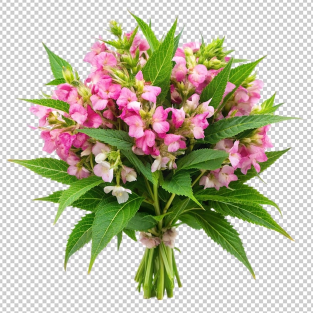
[[161,187],[169,193],[184,195],[202,207],[201,203],[193,195],[191,177],[185,170],[180,170],[168,180],[164,180],[161,183]]

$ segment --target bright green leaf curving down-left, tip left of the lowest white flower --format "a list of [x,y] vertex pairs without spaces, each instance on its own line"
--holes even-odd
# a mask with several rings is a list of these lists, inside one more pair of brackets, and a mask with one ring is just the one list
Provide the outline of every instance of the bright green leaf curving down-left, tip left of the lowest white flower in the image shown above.
[[60,215],[66,206],[71,205],[75,200],[80,196],[90,190],[92,187],[95,187],[103,183],[101,177],[98,176],[89,176],[87,178],[79,179],[75,183],[72,183],[71,186],[62,192],[60,199],[58,201],[58,209],[53,224],[56,223]]

